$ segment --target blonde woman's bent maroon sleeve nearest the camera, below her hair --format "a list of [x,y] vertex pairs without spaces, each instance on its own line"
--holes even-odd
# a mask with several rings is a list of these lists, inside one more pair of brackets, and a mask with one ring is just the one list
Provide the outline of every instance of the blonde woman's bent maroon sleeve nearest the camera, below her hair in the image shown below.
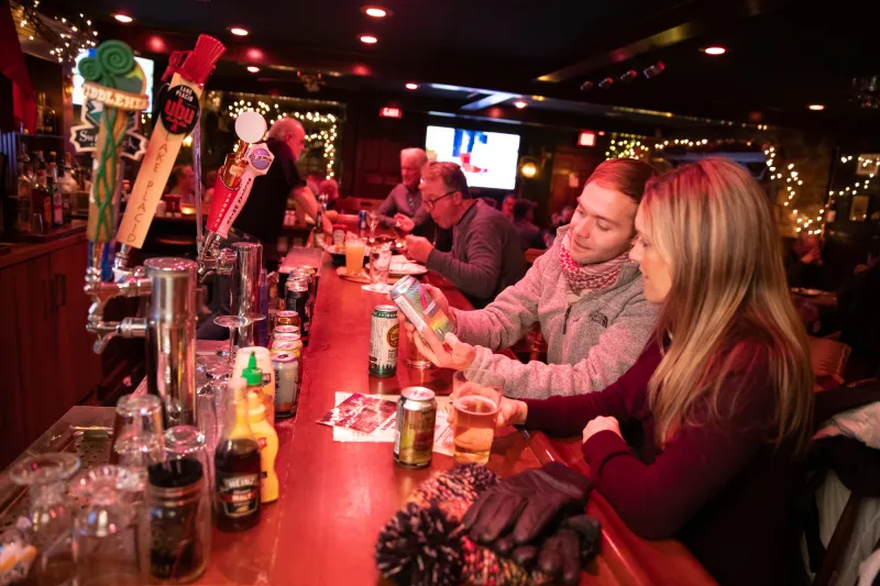
[[612,431],[582,445],[596,487],[627,527],[646,539],[669,538],[739,474],[766,445],[773,420],[768,378],[766,362],[728,376],[721,420],[683,427],[651,464]]

